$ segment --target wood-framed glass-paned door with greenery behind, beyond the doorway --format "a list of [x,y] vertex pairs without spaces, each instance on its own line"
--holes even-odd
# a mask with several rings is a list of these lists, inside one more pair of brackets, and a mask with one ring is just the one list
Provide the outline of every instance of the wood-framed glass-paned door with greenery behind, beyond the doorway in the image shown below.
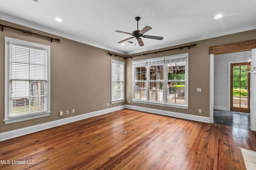
[[250,112],[249,63],[231,64],[230,110]]

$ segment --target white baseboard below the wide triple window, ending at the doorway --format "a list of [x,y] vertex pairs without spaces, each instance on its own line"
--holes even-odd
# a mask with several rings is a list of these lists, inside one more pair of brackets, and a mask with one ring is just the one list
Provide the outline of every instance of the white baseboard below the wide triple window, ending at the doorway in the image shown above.
[[147,112],[150,112],[150,113],[156,113],[156,114],[160,114],[160,115],[167,115],[167,116],[171,116],[171,117],[178,117],[178,118],[182,118],[182,119],[188,119],[188,120],[210,123],[210,117],[189,115],[189,114],[185,114],[185,113],[178,113],[178,112],[158,110],[158,109],[150,109],[150,108],[146,108],[146,107],[138,107],[138,106],[131,106],[131,105],[126,105],[126,108],[139,110],[139,111],[147,111]]

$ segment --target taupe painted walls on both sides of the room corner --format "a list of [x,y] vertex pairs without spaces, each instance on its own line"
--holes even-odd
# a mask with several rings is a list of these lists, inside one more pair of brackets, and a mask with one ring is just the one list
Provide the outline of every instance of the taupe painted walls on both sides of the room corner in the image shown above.
[[[122,102],[110,104],[111,100],[111,59],[124,61],[121,57],[110,57],[106,55],[109,51],[92,47],[83,43],[57,37],[38,30],[26,28],[7,21],[0,20],[3,25],[27,29],[34,33],[56,37],[60,39],[57,43],[38,38],[34,35],[26,35],[12,29],[4,28],[0,33],[0,133],[23,127],[28,127],[49,121],[64,119],[74,115],[99,111],[110,107],[129,104],[140,107],[150,107],[174,111],[174,107],[161,107],[155,105],[144,105],[139,103]],[[48,117],[22,121],[18,123],[5,124],[4,121],[4,37],[31,41],[51,47],[51,114]],[[132,100],[132,61],[149,59],[181,53],[189,54],[189,98],[188,109],[176,109],[176,112],[209,117],[210,98],[210,57],[208,49],[213,45],[234,43],[256,39],[256,30],[191,42],[184,45],[196,44],[196,47],[178,49],[142,57],[127,58],[125,60],[126,72],[126,101]],[[165,48],[168,49],[168,48]],[[162,49],[161,49],[162,50]],[[150,51],[151,52],[151,51]],[[196,92],[196,88],[202,88],[202,92]],[[60,111],[75,109],[75,113],[59,116]],[[202,109],[202,113],[198,113]]]

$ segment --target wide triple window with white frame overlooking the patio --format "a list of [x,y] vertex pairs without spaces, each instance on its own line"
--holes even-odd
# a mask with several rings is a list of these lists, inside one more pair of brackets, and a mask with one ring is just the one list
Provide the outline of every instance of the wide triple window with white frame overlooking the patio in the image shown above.
[[134,102],[188,108],[188,53],[133,61]]

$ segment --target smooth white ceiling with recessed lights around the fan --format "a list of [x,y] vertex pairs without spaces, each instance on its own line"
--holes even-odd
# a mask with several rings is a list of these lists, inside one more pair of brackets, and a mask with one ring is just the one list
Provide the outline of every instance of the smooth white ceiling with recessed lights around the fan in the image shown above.
[[[214,19],[217,14],[223,17]],[[152,27],[144,35],[164,39],[142,38],[143,47],[117,43],[131,35],[115,30],[137,30],[137,16],[139,30]],[[56,17],[63,21],[55,21]],[[0,19],[133,54],[256,29],[256,0],[0,0]]]

